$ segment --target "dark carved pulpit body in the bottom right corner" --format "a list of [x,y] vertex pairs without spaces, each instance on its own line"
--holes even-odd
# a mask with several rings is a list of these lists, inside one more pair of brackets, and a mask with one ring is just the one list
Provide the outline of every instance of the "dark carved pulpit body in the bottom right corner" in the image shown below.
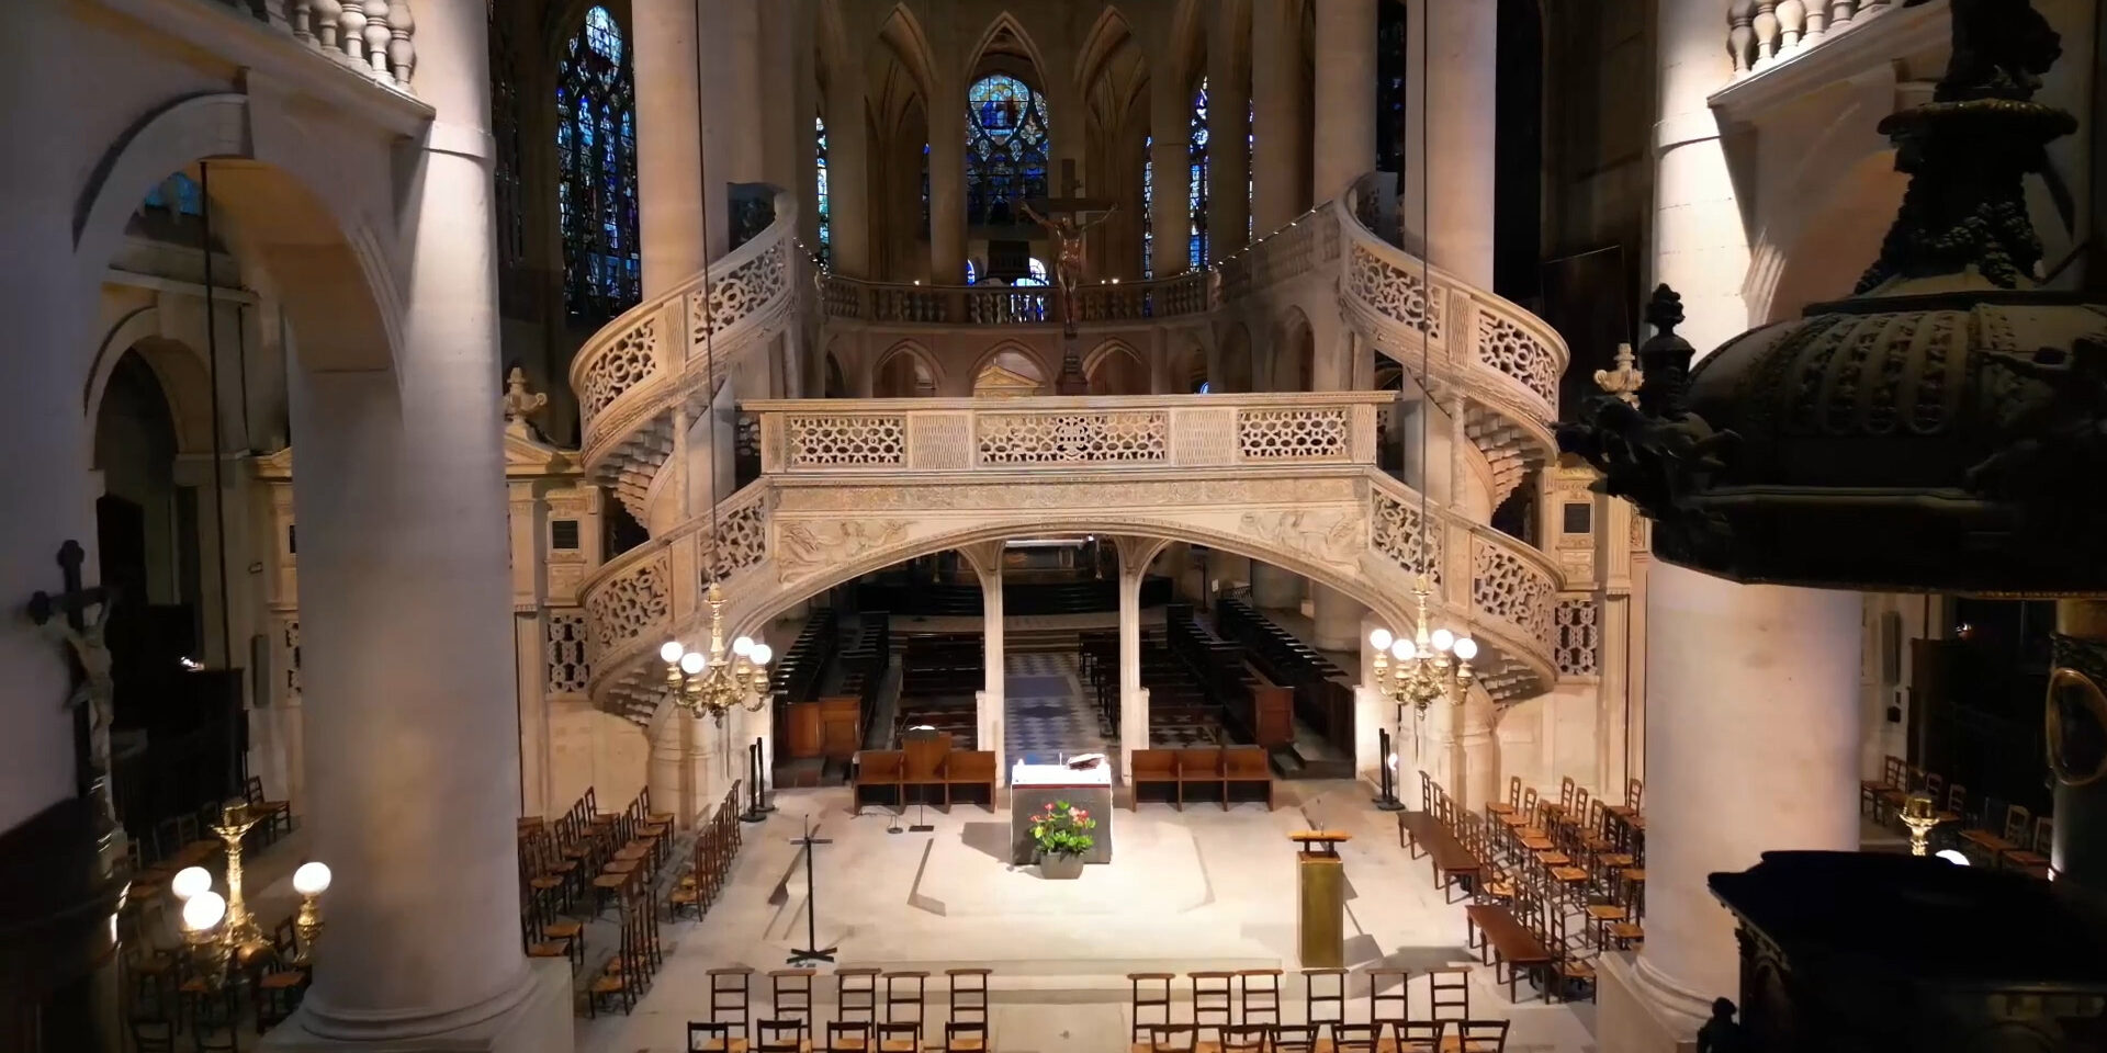
[[2107,1049],[2107,914],[2056,882],[1778,851],[1709,885],[1740,920],[1751,1051]]

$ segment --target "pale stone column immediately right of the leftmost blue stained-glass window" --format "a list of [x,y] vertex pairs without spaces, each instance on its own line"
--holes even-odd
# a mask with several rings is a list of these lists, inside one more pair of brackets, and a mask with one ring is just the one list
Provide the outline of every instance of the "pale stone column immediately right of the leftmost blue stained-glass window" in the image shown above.
[[[651,299],[700,274],[708,259],[702,240],[695,2],[634,0],[630,23],[636,48],[636,230],[643,295]],[[424,53],[421,40],[417,51]],[[712,215],[723,215],[723,187],[714,200],[718,211]]]

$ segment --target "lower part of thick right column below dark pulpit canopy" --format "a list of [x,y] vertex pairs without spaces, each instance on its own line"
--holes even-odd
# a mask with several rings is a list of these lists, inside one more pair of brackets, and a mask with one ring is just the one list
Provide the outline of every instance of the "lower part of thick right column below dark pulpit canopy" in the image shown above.
[[1707,874],[1858,847],[1854,592],[1648,575],[1646,948],[1610,956],[1601,1047],[1667,1051],[1740,990]]

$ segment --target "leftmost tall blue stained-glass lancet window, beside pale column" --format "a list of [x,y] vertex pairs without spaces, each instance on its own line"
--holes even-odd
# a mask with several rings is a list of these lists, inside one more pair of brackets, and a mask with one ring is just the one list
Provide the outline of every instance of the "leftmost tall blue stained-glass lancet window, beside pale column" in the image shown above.
[[605,6],[565,44],[556,72],[556,213],[563,299],[600,320],[638,299],[636,86],[622,27]]

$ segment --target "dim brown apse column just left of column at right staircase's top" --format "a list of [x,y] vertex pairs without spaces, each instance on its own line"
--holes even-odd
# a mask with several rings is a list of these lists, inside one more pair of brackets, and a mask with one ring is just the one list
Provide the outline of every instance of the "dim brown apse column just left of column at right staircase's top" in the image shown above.
[[1264,143],[1252,154],[1252,234],[1258,238],[1285,227],[1308,204],[1300,152],[1308,110],[1302,97],[1302,19],[1292,11],[1287,0],[1252,0],[1252,99],[1258,103],[1252,133]]

